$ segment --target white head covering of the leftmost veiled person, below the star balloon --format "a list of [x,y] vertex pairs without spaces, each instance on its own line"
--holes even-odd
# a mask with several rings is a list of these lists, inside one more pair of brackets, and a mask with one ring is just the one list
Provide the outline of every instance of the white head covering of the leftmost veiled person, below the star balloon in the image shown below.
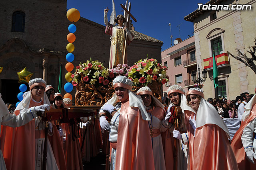
[[[23,98],[23,100],[18,104],[18,106],[16,107],[16,110],[20,110],[20,113],[25,112],[30,104],[30,100],[31,100],[31,90],[32,88],[34,88],[35,86],[46,86],[46,82],[42,79],[42,78],[34,78],[32,80],[30,80],[28,82],[28,86],[30,87],[30,91],[28,92],[28,94],[25,96],[25,98]],[[48,104],[49,106],[51,106],[50,101],[46,95],[46,93],[44,92],[43,96],[42,96],[42,100],[44,101],[44,104]]]

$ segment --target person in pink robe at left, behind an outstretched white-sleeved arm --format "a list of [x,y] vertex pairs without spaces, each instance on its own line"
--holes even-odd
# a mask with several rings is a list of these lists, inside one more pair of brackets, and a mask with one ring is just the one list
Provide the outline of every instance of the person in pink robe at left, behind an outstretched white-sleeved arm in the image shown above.
[[[30,80],[28,84],[30,92],[14,111],[17,116],[26,114],[28,110],[33,112],[36,108],[50,109],[50,102],[44,92],[46,82],[41,78],[35,78]],[[48,146],[46,167],[59,170],[50,142],[49,140],[45,141],[44,138],[45,126],[45,122],[40,117],[35,117],[34,120],[24,126],[15,128],[11,135],[6,134],[5,137],[8,138],[9,142],[5,142],[5,145],[8,145],[9,153],[4,153],[4,159],[8,162],[6,164],[8,170],[41,170],[44,142],[47,142]],[[53,131],[50,126],[51,123],[49,123],[49,132],[52,135]]]

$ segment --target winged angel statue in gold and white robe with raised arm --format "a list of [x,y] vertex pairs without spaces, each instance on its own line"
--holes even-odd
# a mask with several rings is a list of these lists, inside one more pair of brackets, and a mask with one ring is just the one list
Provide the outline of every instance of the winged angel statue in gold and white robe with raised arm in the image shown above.
[[[108,7],[104,9],[104,23],[106,25],[105,34],[110,35],[110,57],[109,57],[109,68],[116,66],[117,64],[127,64],[127,47],[126,38],[128,37],[128,43],[133,40],[132,34],[129,29],[124,26],[126,18],[123,15],[118,15],[116,18],[114,0],[112,0],[113,11],[110,16],[110,22],[108,22]],[[116,25],[116,23],[118,25]]]

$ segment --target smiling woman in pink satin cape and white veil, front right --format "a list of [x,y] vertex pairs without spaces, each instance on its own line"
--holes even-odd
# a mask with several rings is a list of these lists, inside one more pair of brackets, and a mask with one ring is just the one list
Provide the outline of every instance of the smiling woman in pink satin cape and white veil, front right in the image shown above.
[[[199,88],[191,88],[181,103],[188,130],[189,170],[238,170],[226,124]],[[188,106],[189,105],[189,106]]]

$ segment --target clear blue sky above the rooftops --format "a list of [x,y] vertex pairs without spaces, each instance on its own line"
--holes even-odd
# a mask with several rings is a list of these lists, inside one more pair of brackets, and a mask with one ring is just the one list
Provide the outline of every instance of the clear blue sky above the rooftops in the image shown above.
[[[124,14],[120,4],[126,0],[114,0],[116,15]],[[172,27],[172,41],[176,38],[185,40],[193,34],[193,23],[184,20],[184,16],[198,8],[198,3],[205,4],[208,0],[129,0],[131,13],[137,22],[132,22],[136,31],[164,42],[162,50],[170,47],[170,26]],[[68,0],[67,8],[76,8],[82,17],[104,25],[103,10],[108,7],[108,20],[112,12],[112,0]],[[179,28],[180,25],[180,35]],[[172,42],[173,44],[173,42]]]

